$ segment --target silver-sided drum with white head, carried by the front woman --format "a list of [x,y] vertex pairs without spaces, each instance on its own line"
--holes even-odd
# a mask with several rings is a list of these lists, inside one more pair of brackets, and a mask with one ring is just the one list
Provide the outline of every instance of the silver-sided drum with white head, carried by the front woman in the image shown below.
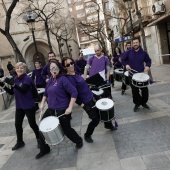
[[59,119],[55,116],[44,118],[40,122],[39,129],[45,138],[45,142],[49,145],[57,145],[64,139]]

